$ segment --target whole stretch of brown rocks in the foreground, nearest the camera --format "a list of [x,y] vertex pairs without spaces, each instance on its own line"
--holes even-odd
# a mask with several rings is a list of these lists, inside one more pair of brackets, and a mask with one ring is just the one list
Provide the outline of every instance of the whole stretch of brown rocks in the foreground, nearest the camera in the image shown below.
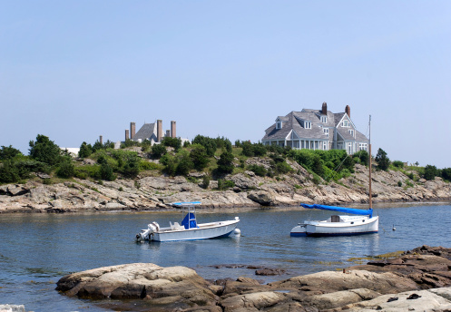
[[366,265],[266,285],[208,281],[191,268],[134,263],[74,273],[62,294],[132,311],[451,311],[451,249],[422,246]]

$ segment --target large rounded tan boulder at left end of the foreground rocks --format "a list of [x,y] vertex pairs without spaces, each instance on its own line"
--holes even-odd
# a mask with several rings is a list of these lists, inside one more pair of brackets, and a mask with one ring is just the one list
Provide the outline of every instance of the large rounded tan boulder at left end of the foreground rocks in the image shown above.
[[211,306],[218,297],[191,268],[162,268],[132,263],[70,274],[57,290],[81,298],[144,299],[150,306],[189,308]]

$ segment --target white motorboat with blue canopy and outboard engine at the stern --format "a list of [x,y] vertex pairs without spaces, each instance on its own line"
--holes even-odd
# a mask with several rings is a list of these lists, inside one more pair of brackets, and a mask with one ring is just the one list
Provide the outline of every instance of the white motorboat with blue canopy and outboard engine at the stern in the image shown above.
[[211,223],[197,223],[195,205],[200,205],[200,201],[175,202],[175,207],[187,210],[185,217],[179,222],[169,222],[170,226],[161,228],[157,222],[148,224],[147,229],[142,229],[136,234],[136,241],[174,241],[193,239],[219,239],[229,236],[236,229],[240,218],[218,221]]

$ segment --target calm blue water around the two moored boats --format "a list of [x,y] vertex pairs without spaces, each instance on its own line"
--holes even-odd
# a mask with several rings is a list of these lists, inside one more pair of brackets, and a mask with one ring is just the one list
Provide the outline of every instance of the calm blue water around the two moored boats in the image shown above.
[[[194,268],[203,278],[254,275],[236,264],[284,268],[265,282],[352,265],[349,258],[377,256],[421,245],[451,248],[449,204],[377,207],[379,233],[335,238],[291,238],[304,219],[325,219],[325,211],[296,209],[198,212],[198,221],[240,217],[240,238],[135,243],[150,221],[181,221],[181,212],[0,215],[0,304],[24,304],[27,311],[105,311],[91,301],[54,290],[64,275],[104,266],[152,262]],[[393,231],[393,225],[397,230]]]

